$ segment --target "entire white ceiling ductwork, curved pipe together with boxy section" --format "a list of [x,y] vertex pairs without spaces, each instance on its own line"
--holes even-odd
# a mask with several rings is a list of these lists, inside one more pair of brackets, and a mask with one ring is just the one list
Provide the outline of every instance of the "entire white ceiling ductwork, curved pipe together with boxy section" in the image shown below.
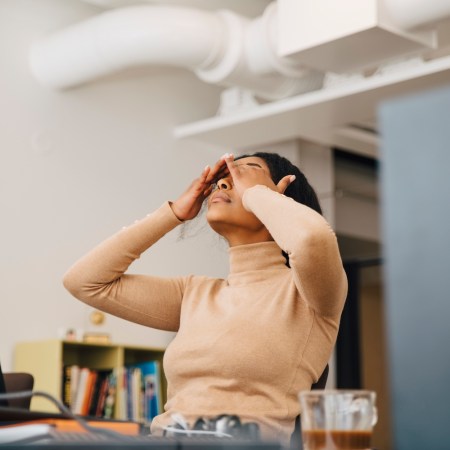
[[326,72],[372,70],[435,49],[436,24],[449,17],[450,0],[277,0],[255,19],[228,10],[136,5],[41,38],[30,64],[54,89],[158,65],[278,100],[320,89]]

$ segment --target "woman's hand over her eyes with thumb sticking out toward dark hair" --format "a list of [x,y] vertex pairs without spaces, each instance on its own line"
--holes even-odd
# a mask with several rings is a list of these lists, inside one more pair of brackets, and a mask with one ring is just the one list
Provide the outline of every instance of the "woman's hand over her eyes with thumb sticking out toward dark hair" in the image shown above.
[[266,169],[254,164],[239,164],[234,161],[234,156],[224,156],[230,176],[233,180],[233,188],[242,198],[246,189],[257,184],[267,186],[273,191],[283,194],[287,187],[295,180],[295,175],[286,175],[275,184]]

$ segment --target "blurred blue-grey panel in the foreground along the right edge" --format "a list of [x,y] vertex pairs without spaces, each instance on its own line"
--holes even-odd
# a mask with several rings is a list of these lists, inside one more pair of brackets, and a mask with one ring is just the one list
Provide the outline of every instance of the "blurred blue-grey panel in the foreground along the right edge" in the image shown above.
[[450,86],[380,110],[396,450],[449,448]]

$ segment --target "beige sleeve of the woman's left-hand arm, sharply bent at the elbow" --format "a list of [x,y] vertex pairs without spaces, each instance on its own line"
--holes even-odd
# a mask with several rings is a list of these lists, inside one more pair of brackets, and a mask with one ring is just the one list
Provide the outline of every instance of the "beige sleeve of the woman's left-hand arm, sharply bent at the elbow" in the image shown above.
[[64,286],[76,298],[99,310],[152,328],[176,331],[186,278],[124,273],[179,223],[165,203],[77,261],[65,274]]

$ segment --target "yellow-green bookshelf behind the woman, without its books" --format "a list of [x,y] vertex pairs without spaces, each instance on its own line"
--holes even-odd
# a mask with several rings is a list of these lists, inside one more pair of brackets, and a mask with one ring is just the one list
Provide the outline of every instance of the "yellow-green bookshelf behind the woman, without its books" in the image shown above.
[[[79,341],[47,340],[20,342],[14,354],[14,370],[28,372],[34,376],[34,390],[45,391],[62,399],[64,368],[77,365],[92,370],[118,370],[125,366],[147,361],[158,361],[160,367],[161,403],[166,402],[167,382],[164,376],[162,360],[165,349],[134,345],[98,344]],[[122,395],[121,383],[117,383],[117,399]],[[33,398],[32,410],[57,411],[48,400]],[[117,416],[115,411],[114,418]]]

